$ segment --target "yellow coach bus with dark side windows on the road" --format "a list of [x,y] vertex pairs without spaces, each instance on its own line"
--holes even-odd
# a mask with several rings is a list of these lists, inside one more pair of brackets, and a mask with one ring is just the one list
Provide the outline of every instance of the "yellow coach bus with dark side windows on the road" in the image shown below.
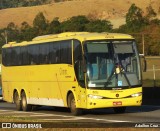
[[124,113],[142,104],[135,39],[126,34],[66,32],[2,47],[2,93],[17,110],[38,105]]

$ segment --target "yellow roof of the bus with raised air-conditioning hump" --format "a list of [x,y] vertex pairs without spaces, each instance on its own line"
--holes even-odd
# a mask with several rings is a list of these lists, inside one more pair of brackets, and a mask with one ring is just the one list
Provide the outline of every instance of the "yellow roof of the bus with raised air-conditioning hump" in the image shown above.
[[86,41],[86,40],[104,40],[104,39],[133,39],[133,37],[128,34],[120,34],[120,33],[65,32],[60,34],[38,36],[33,38],[32,41],[23,41],[21,43],[9,42],[8,44],[5,44],[3,48],[38,44],[51,41],[69,40],[69,39],[78,39],[80,41]]

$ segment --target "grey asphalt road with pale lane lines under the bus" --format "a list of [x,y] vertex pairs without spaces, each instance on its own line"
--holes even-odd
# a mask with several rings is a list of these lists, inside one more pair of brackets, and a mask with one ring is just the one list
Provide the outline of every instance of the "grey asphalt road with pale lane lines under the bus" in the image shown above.
[[91,125],[103,127],[104,124],[109,126],[118,125],[134,127],[138,126],[137,124],[140,124],[139,126],[155,124],[153,126],[160,128],[160,106],[147,105],[141,107],[127,107],[126,113],[124,114],[115,114],[112,108],[106,108],[87,110],[82,116],[72,116],[66,108],[40,107],[38,110],[31,112],[16,111],[14,104],[1,101],[0,117],[1,116],[72,123],[72,125],[73,123],[81,123],[82,127],[90,127]]

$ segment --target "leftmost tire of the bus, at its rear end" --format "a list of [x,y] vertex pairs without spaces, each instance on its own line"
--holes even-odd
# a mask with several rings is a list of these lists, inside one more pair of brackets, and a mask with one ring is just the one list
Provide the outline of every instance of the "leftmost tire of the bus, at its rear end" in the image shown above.
[[17,111],[22,111],[22,103],[21,103],[21,100],[19,99],[19,95],[17,91],[13,95],[13,100],[14,100],[14,103],[16,104]]

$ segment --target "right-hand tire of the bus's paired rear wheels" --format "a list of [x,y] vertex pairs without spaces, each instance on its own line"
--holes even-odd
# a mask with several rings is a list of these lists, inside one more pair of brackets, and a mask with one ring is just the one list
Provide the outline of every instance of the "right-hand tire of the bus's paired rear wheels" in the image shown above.
[[21,94],[21,101],[22,101],[22,110],[23,111],[31,111],[32,110],[32,106],[27,104],[27,97],[25,92],[22,92]]

